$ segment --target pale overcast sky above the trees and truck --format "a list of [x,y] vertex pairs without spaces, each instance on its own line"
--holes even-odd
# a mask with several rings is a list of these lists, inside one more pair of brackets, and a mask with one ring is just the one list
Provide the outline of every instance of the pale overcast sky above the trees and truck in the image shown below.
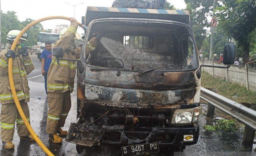
[[[114,0],[1,0],[1,10],[3,12],[14,11],[17,12],[20,21],[26,18],[39,19],[46,16],[74,16],[81,22],[81,17],[85,15],[87,6],[102,6],[111,7]],[[177,9],[186,8],[184,0],[167,0]],[[72,5],[69,5],[69,4]],[[41,22],[44,29],[53,29],[56,25],[70,24],[67,20],[48,20]],[[78,33],[83,33],[83,30],[79,28]]]

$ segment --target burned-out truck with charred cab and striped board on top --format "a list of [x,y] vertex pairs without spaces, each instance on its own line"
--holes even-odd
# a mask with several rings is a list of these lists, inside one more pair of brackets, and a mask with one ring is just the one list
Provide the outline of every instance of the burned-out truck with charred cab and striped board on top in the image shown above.
[[88,7],[83,19],[77,123],[66,141],[78,153],[120,145],[123,156],[196,144],[201,68],[189,12]]

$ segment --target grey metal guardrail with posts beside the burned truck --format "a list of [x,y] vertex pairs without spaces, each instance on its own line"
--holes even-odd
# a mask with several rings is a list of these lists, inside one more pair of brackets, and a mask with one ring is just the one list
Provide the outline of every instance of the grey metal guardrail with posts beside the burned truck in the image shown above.
[[213,117],[214,108],[216,107],[236,120],[242,122],[245,125],[243,145],[246,148],[252,149],[256,130],[256,105],[251,105],[252,109],[248,108],[203,87],[201,87],[200,97],[209,103],[207,108],[207,117]]

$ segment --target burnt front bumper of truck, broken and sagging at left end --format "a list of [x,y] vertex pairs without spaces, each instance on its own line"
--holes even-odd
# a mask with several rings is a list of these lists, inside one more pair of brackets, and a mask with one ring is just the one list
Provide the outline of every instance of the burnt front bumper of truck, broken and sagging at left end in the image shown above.
[[[189,140],[185,136],[192,136]],[[139,128],[126,130],[124,125],[97,126],[94,123],[71,123],[66,141],[84,145],[100,144],[145,144],[158,142],[159,145],[185,146],[196,144],[199,127]]]

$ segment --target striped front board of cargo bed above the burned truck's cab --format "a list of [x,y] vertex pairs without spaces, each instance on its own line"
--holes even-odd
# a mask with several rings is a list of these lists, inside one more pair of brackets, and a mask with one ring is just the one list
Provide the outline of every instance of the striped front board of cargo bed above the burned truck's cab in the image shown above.
[[103,18],[163,19],[189,24],[189,11],[88,6],[82,23],[87,26],[93,19]]

